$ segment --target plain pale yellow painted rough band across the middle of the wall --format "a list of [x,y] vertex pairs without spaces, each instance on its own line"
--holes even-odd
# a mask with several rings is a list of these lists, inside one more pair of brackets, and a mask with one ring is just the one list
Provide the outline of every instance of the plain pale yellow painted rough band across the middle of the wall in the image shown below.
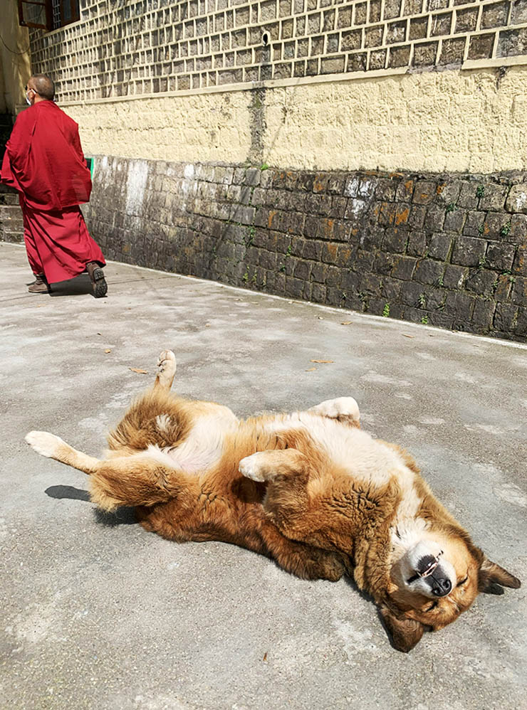
[[[303,80],[65,105],[86,153],[296,169],[527,169],[527,67]],[[264,122],[264,123],[262,123]]]

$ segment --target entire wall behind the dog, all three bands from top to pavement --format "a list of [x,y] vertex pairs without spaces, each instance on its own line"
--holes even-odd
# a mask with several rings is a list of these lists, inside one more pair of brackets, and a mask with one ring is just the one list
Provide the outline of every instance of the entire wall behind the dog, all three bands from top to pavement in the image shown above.
[[32,68],[95,155],[109,258],[527,340],[527,0],[80,17],[31,32]]

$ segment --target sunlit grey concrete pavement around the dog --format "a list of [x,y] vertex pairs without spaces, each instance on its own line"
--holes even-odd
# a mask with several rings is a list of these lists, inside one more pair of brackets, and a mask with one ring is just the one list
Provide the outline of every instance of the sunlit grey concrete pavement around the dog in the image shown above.
[[[526,707],[527,347],[110,263],[30,295],[0,243],[0,706],[466,710]],[[98,513],[31,429],[97,455],[162,349],[175,387],[244,416],[352,395],[524,586],[480,595],[409,655],[346,581],[301,581],[219,543]],[[313,360],[331,360],[320,364]],[[131,368],[146,370],[137,373]]]

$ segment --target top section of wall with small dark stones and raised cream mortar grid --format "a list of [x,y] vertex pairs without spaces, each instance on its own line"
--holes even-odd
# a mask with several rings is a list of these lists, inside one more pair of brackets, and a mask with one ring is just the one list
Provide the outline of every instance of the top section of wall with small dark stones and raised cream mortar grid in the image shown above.
[[527,54],[527,0],[85,0],[80,16],[31,35],[61,102]]

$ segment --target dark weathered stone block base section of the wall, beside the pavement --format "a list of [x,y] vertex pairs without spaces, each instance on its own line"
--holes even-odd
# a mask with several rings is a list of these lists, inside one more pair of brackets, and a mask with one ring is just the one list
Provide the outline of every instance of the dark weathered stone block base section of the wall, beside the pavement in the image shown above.
[[527,341],[527,174],[279,171],[95,157],[108,258]]

